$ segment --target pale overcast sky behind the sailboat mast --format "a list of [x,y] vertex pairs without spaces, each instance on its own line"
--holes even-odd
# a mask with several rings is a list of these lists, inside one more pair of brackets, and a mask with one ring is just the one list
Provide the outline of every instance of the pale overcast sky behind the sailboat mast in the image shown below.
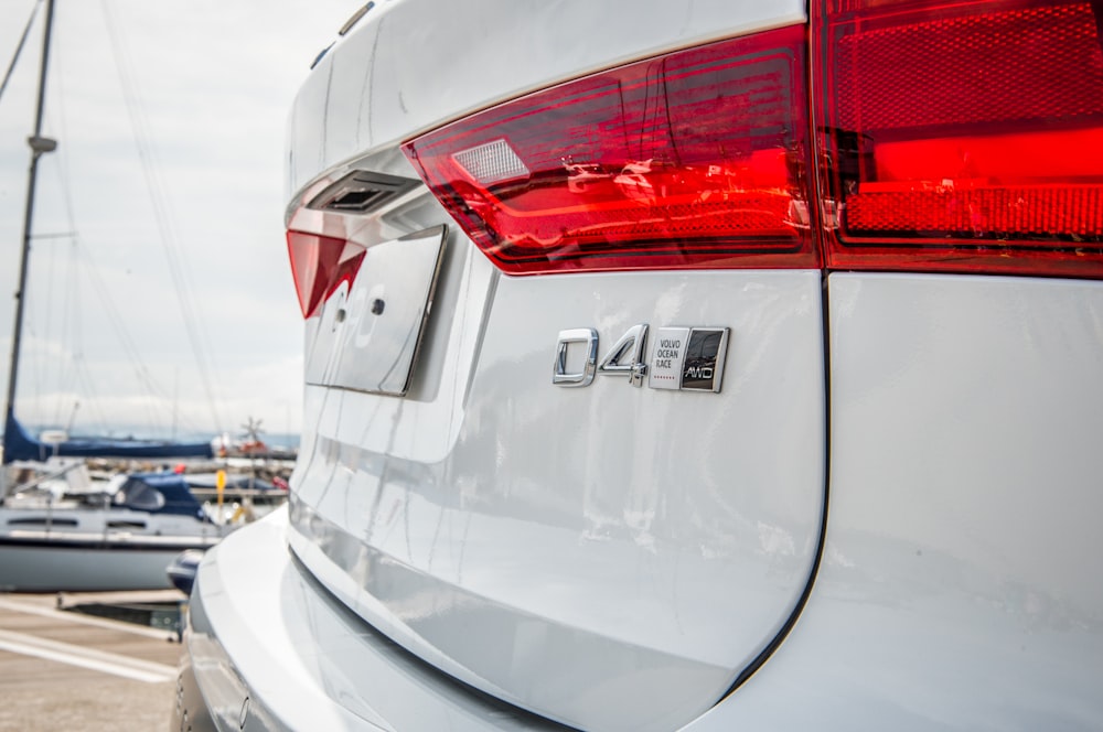
[[[0,0],[0,74],[34,4]],[[58,149],[39,165],[22,421],[183,434],[239,433],[253,417],[299,431],[285,126],[311,62],[361,4],[55,0],[44,133]],[[3,386],[44,10],[0,97]]]

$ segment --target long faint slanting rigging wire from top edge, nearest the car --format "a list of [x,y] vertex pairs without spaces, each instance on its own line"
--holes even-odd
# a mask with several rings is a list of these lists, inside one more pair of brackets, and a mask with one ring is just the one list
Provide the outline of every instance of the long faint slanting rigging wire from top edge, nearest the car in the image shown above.
[[[178,246],[176,237],[174,235],[174,228],[171,225],[171,211],[164,194],[164,185],[160,180],[158,166],[154,164],[154,150],[149,142],[149,136],[147,133],[148,122],[146,120],[144,110],[141,107],[140,95],[138,95],[136,84],[130,77],[128,71],[130,67],[128,63],[129,54],[121,34],[115,23],[115,18],[111,13],[108,1],[100,0],[100,7],[107,24],[108,36],[111,41],[111,51],[115,57],[116,71],[118,72],[119,82],[122,86],[122,97],[126,103],[127,114],[130,118],[131,133],[135,138],[135,144],[138,148],[138,155],[142,163],[142,172],[146,177],[147,190],[149,191],[150,201],[153,206],[153,216],[157,220],[157,227],[160,233],[161,248],[164,251],[164,256],[169,265],[169,273],[172,277],[172,282],[176,290],[176,298],[184,320],[184,329],[188,333],[188,340],[192,346],[192,355],[195,358],[200,380],[207,397],[211,415],[214,418],[216,429],[218,432],[222,432],[222,420],[218,417],[216,399],[214,397],[211,379],[213,356],[210,355],[208,351],[204,347],[205,342],[203,336],[205,334],[196,324],[199,319],[195,314],[194,298],[192,297],[192,290],[188,280],[186,268],[181,260],[179,251],[180,247]],[[208,343],[208,341],[206,343]],[[213,349],[211,349],[210,353],[213,353]]]

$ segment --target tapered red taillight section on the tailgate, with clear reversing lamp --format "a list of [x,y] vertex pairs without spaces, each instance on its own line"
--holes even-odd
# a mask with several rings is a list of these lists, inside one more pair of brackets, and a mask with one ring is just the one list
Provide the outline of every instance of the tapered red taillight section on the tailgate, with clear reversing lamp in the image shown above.
[[403,147],[504,271],[818,267],[800,26],[521,97]]

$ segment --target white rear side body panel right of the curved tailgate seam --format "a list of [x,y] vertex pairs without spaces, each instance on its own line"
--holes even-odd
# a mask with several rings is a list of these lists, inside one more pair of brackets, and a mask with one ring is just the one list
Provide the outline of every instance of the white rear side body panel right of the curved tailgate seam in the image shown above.
[[1103,283],[829,291],[824,563],[775,656],[690,729],[1099,729]]

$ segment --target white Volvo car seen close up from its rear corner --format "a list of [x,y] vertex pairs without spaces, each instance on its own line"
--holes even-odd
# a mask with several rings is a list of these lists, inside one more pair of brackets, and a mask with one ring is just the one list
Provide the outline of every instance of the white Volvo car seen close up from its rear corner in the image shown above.
[[1100,13],[368,3],[173,729],[1103,728]]

